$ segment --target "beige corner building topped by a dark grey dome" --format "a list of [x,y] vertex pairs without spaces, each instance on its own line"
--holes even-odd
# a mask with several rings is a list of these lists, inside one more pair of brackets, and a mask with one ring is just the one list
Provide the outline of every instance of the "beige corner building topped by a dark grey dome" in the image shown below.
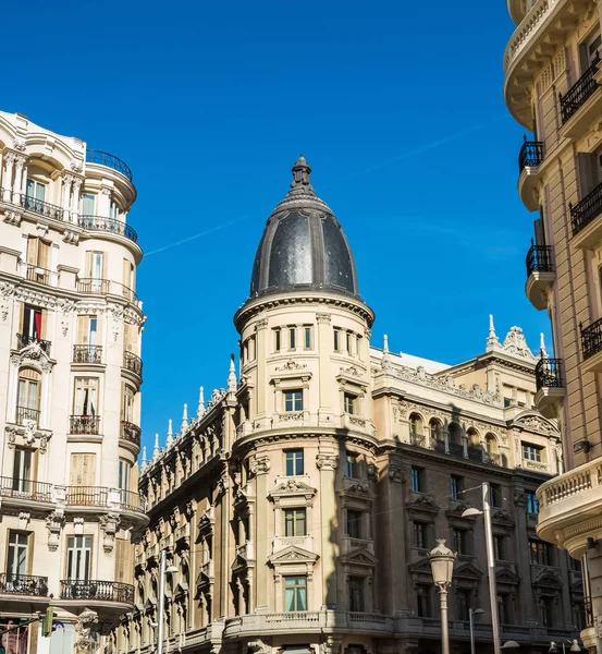
[[300,157],[263,230],[225,387],[201,388],[144,452],[135,607],[107,651],[155,652],[162,620],[169,652],[435,654],[427,555],[443,537],[458,553],[454,652],[469,652],[477,608],[478,651],[492,652],[484,528],[463,516],[483,481],[504,640],[543,653],[575,638],[580,570],[536,533],[536,489],[564,469],[556,423],[535,408],[543,343],[533,355],[518,327],[499,339],[491,318],[459,365],[371,344],[374,313],[310,172]]

